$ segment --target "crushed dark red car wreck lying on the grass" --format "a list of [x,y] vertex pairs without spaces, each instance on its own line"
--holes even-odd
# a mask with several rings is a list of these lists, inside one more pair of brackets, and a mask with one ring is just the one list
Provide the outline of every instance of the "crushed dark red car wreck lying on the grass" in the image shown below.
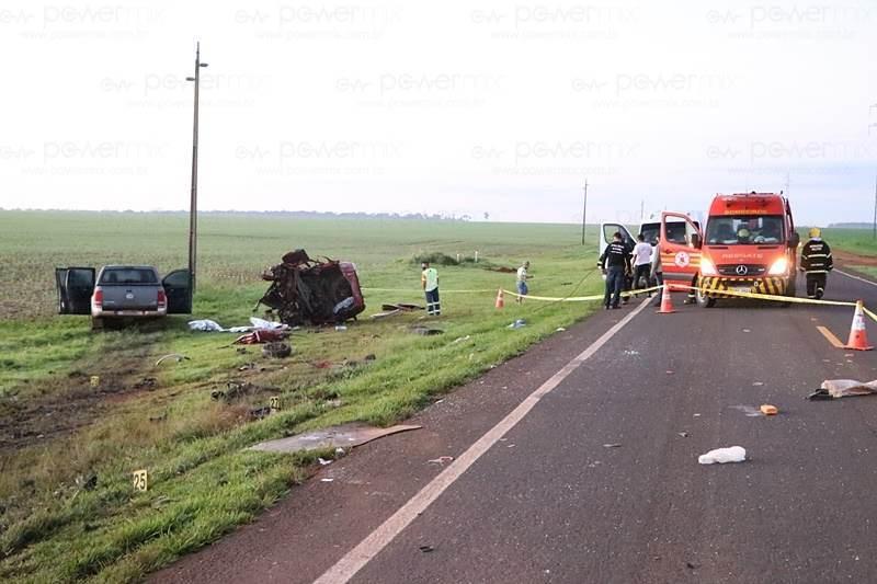
[[351,262],[324,257],[311,260],[305,250],[295,250],[262,274],[271,282],[259,299],[276,311],[281,322],[289,325],[329,324],[356,318],[365,310],[356,267]]

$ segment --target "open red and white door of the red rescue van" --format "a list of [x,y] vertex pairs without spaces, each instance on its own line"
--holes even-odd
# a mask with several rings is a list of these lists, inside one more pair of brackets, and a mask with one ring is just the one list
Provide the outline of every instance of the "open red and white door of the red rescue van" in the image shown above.
[[661,270],[671,288],[673,284],[694,285],[701,271],[702,241],[701,229],[691,217],[674,211],[661,214]]

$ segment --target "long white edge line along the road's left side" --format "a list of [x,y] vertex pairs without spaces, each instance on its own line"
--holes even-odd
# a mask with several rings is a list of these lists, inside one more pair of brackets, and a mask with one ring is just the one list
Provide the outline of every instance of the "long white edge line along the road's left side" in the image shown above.
[[394,513],[377,529],[372,531],[355,548],[350,550],[338,563],[326,571],[314,584],[342,584],[349,582],[356,572],[362,570],[375,556],[387,547],[402,529],[414,520],[433,501],[456,481],[466,470],[471,467],[491,446],[515,426],[527,413],[539,402],[543,396],[554,390],[560,382],[574,371],[582,363],[588,360],[600,347],[606,344],[615,333],[620,331],[625,324],[630,322],[634,317],[639,314],[643,308],[649,306],[651,299],[645,299],[637,308],[629,312],[619,322],[603,333],[600,339],[594,341],[588,348],[582,351],[572,360],[566,364],[559,371],[538,387],[533,393],[527,396],[517,408],[512,410],[509,415],[502,419],[499,424],[490,428],[483,436],[472,444],[468,450],[463,453],[456,460],[435,477],[429,484],[412,496],[405,505]]

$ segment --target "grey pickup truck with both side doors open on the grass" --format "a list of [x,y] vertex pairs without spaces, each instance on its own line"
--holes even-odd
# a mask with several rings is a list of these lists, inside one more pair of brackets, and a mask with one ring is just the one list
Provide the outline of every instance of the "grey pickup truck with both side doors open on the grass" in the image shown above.
[[93,329],[109,321],[160,318],[192,312],[192,286],[187,270],[159,278],[150,265],[57,267],[58,313],[91,314]]

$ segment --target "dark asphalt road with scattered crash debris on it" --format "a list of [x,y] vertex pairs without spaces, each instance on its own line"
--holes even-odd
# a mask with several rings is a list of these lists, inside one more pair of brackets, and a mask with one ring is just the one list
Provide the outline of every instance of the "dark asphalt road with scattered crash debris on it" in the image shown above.
[[[877,307],[877,286],[834,274],[828,298]],[[877,582],[877,397],[805,400],[877,378],[877,352],[817,331],[845,341],[852,309],[682,299],[637,313],[351,582]],[[312,582],[444,470],[429,460],[459,457],[636,306],[497,367],[155,581]],[[747,415],[762,403],[781,414]],[[749,460],[697,463],[732,445]]]

